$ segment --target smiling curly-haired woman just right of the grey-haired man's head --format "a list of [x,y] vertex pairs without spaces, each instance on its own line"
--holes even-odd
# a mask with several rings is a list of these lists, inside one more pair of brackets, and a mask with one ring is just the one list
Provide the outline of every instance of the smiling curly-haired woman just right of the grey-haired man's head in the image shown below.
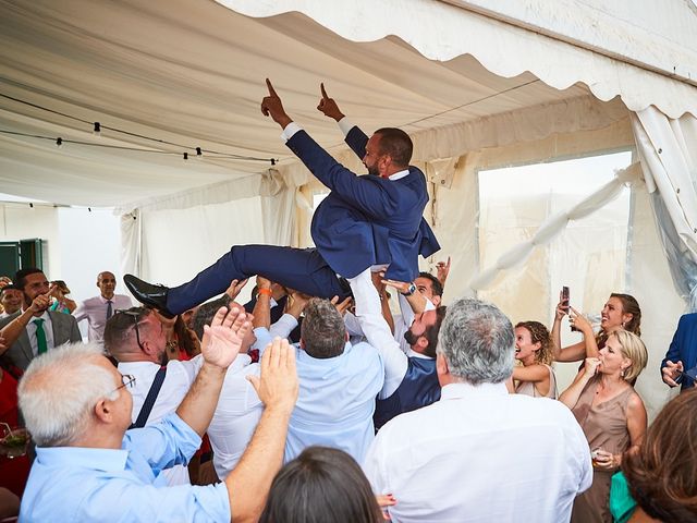
[[521,321],[515,326],[515,358],[523,365],[513,368],[506,384],[509,392],[533,398],[557,399],[557,378],[552,364],[549,330],[539,321]]

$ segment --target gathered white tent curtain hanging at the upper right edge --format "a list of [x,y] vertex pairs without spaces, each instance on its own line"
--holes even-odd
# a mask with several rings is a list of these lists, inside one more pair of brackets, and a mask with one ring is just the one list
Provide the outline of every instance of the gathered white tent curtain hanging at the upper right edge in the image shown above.
[[697,309],[697,119],[671,119],[649,107],[632,127],[673,283]]

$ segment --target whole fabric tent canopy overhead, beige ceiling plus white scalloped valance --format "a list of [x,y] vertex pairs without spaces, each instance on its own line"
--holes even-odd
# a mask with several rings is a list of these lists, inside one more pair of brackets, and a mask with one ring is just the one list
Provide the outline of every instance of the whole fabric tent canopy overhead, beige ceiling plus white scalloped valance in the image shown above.
[[[540,114],[536,108],[547,105],[557,105],[562,121],[583,127],[594,109],[565,104],[589,90],[601,100],[619,95],[623,104],[615,108],[652,104],[672,117],[697,112],[694,81],[682,81],[697,77],[695,44],[676,40],[696,34],[688,3],[663,8],[658,29],[652,28],[655,13],[634,2],[624,11],[590,0],[567,0],[557,9],[529,0],[509,8],[451,3],[227,2],[233,11],[198,0],[1,2],[0,93],[64,115],[0,98],[0,130],[171,155],[68,143],[58,149],[52,141],[0,134],[0,188],[59,204],[129,210],[194,187],[237,180],[245,185],[243,179],[266,172],[269,162],[205,155],[185,163],[182,153],[199,146],[276,157],[281,166],[292,162],[277,127],[258,110],[265,76],[274,80],[289,111],[332,150],[344,146],[332,122],[314,109],[320,81],[366,130],[398,125],[411,134],[423,132],[429,137],[424,147],[417,144],[424,160],[472,150],[480,139],[484,146],[534,139],[541,127],[529,122],[508,133],[505,115]],[[511,11],[497,13],[504,9]],[[284,14],[240,14],[279,12]],[[598,27],[613,22],[612,38],[594,41],[602,32],[587,35],[584,24],[573,23],[572,12]],[[530,13],[537,13],[537,33],[525,29],[535,25]],[[558,35],[542,31],[557,23]],[[643,38],[635,39],[638,33]],[[620,48],[623,41],[632,46]],[[665,75],[671,63],[674,78]],[[480,125],[491,119],[499,123],[480,138]],[[179,145],[109,129],[95,138],[95,121]],[[560,120],[548,121],[543,132],[559,132]]]

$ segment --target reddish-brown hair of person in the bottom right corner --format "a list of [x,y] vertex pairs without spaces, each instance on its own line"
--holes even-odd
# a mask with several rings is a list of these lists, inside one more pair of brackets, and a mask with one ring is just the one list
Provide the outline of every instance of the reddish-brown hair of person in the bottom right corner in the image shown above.
[[638,451],[624,454],[632,497],[650,518],[697,520],[696,411],[697,390],[683,392],[656,417]]

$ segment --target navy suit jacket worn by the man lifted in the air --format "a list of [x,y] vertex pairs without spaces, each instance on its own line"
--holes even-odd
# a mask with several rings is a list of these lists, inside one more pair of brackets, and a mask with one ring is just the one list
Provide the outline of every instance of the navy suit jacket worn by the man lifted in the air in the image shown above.
[[[360,158],[367,142],[358,127],[346,136]],[[286,145],[331,190],[315,211],[310,233],[332,270],[353,278],[371,265],[390,264],[387,278],[413,281],[418,275],[418,255],[427,257],[440,250],[423,217],[428,192],[419,169],[409,167],[408,175],[396,181],[358,177],[305,131],[295,133]]]

